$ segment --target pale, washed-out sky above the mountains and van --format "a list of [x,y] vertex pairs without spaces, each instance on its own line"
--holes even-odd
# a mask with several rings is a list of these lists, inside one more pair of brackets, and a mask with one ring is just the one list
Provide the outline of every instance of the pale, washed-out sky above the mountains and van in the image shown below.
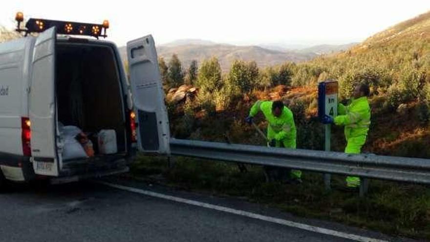
[[102,23],[118,45],[152,34],[157,44],[204,39],[229,44],[358,42],[430,10],[430,0],[4,0],[0,24],[15,13]]

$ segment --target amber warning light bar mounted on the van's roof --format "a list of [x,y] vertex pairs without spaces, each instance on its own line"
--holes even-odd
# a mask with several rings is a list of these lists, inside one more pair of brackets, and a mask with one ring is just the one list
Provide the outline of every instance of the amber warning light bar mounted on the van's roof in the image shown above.
[[29,33],[40,33],[55,26],[57,28],[57,34],[86,35],[97,39],[99,37],[108,37],[106,32],[109,28],[109,22],[107,20],[103,21],[103,24],[96,24],[31,18],[25,24],[25,28],[22,29],[20,28],[20,23],[24,20],[24,15],[18,12],[15,16],[15,20],[18,22],[16,31],[25,32],[25,35]]

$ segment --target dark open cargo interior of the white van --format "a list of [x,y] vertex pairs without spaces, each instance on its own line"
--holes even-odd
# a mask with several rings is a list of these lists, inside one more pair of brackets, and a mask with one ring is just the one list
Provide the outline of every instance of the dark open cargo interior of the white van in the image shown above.
[[[95,155],[68,159],[63,168],[85,164],[106,165],[127,152],[127,125],[121,80],[114,52],[101,44],[58,42],[56,47],[56,99],[59,126],[75,126],[88,135]],[[60,124],[61,123],[61,124]],[[97,134],[114,130],[115,154],[101,154]],[[67,149],[67,147],[64,147]]]

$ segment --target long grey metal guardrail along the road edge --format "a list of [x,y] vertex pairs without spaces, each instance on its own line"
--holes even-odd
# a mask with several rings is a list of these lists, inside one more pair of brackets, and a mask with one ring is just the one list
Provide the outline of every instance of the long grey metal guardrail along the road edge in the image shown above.
[[429,159],[181,139],[172,139],[170,144],[174,155],[430,184]]

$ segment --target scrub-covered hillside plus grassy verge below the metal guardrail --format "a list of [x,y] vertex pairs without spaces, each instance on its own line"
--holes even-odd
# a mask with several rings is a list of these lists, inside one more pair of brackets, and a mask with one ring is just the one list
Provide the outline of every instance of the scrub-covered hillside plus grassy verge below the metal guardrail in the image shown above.
[[[430,13],[426,13],[342,53],[298,64],[261,67],[235,60],[223,73],[218,59],[212,57],[198,68],[196,63],[181,66],[184,71],[177,75],[180,58],[174,56],[168,62],[160,58],[172,135],[265,145],[244,118],[256,100],[282,100],[295,116],[297,147],[323,150],[323,125],[315,118],[317,84],[335,79],[344,103],[358,83],[371,87],[372,124],[364,153],[430,158],[429,22]],[[261,129],[267,126],[261,115],[256,122]],[[333,127],[332,150],[342,152],[344,147],[343,129]],[[301,216],[430,239],[428,186],[372,180],[369,195],[362,199],[342,191],[343,176],[334,176],[334,189],[327,194],[320,174],[305,172],[303,184],[294,186],[265,182],[262,170],[255,166],[241,173],[234,164],[199,159],[178,158],[170,168],[164,164],[160,159],[141,157],[132,169],[133,176],[144,174],[152,182],[241,196]],[[154,174],[161,181],[151,178]]]

